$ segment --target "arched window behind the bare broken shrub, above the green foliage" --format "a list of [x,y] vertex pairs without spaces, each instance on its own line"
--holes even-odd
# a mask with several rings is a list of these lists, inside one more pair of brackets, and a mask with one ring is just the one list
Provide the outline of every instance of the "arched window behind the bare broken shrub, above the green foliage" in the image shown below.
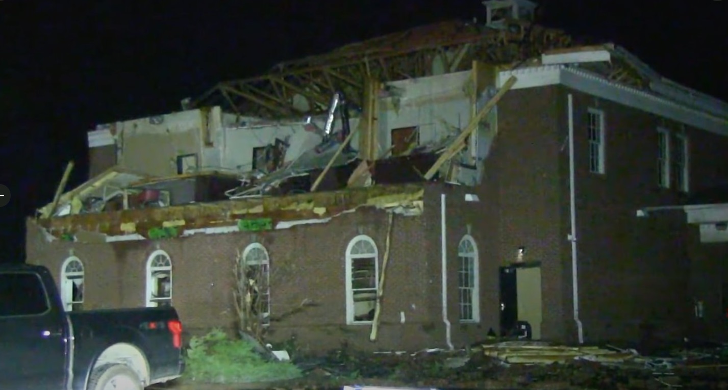
[[245,272],[245,282],[248,286],[246,301],[250,302],[250,311],[258,316],[261,325],[270,324],[271,289],[270,289],[270,258],[268,251],[262,244],[253,242],[242,251],[242,268]]

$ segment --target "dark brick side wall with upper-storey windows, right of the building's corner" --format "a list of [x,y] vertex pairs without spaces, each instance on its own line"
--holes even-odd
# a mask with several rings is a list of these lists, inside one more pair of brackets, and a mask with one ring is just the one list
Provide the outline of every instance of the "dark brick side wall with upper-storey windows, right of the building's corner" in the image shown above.
[[[580,311],[589,341],[640,337],[640,325],[657,325],[657,337],[681,340],[692,315],[690,258],[684,212],[636,218],[641,207],[683,204],[687,194],[657,186],[657,127],[681,126],[652,114],[561,89],[556,96],[565,140],[567,94],[574,96]],[[606,118],[606,175],[588,172],[586,111]],[[687,128],[692,190],[728,177],[728,138]],[[568,154],[561,154],[561,188],[568,196]],[[568,199],[568,198],[567,198]],[[568,204],[563,220],[569,226]],[[565,243],[566,244],[566,243]],[[700,250],[699,250],[700,251]],[[564,263],[570,260],[565,256]],[[717,264],[717,263],[716,263]],[[570,266],[569,266],[570,267]],[[566,286],[571,289],[570,268]],[[571,300],[566,301],[571,305]]]

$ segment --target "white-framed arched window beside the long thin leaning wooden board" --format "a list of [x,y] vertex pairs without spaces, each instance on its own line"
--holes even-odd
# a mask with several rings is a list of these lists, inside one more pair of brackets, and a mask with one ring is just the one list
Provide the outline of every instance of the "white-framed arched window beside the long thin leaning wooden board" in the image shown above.
[[379,287],[379,252],[369,236],[356,236],[347,247],[347,324],[374,319]]

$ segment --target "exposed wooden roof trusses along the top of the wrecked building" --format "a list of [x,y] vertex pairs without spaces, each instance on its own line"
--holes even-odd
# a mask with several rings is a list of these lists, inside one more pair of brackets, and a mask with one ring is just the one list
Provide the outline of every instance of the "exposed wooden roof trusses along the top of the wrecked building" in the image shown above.
[[322,114],[337,90],[359,105],[368,78],[395,81],[461,71],[472,60],[515,63],[573,44],[563,31],[525,20],[510,20],[502,30],[436,23],[280,63],[264,76],[224,81],[192,104],[263,117]]

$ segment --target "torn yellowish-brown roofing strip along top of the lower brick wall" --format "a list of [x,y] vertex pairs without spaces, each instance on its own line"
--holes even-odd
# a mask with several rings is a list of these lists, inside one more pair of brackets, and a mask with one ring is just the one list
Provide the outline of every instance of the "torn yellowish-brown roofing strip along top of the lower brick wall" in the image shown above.
[[[239,226],[235,231],[267,230],[277,223],[296,220],[319,220],[373,207],[419,215],[424,207],[424,184],[372,186],[344,191],[235,199],[214,203],[141,210],[119,210],[94,214],[65,215],[41,219],[37,223],[55,237],[70,239],[78,233],[123,236],[138,234],[145,238],[162,238],[166,234],[181,236],[184,231]],[[268,228],[249,228],[253,225]],[[260,227],[260,226],[258,226]],[[162,236],[159,236],[162,234]]]

